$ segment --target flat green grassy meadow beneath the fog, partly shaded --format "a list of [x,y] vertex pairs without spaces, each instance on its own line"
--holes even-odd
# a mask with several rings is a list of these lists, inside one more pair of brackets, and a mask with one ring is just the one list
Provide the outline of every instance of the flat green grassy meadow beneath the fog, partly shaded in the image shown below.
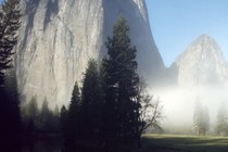
[[228,138],[144,135],[147,152],[228,152]]

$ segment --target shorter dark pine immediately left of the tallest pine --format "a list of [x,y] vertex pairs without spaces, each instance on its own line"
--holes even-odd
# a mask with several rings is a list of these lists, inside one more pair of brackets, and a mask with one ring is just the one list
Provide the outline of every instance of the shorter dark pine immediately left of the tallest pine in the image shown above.
[[101,138],[101,110],[103,106],[103,93],[97,62],[93,59],[89,60],[86,74],[84,75],[81,100],[81,119],[84,124],[85,138]]

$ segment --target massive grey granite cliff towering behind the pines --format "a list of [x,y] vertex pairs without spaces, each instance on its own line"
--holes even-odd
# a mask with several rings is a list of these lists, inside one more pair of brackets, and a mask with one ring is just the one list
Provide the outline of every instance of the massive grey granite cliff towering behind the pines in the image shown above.
[[164,67],[151,35],[144,0],[22,0],[23,25],[16,47],[16,71],[24,101],[45,98],[51,106],[67,104],[89,58],[106,53],[104,42],[118,16],[130,26],[139,73],[151,80]]

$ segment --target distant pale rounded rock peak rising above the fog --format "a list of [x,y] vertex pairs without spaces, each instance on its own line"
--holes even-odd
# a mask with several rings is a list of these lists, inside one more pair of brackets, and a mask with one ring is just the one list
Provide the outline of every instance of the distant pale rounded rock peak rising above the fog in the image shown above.
[[179,86],[228,85],[228,65],[216,41],[207,35],[194,40],[175,64]]

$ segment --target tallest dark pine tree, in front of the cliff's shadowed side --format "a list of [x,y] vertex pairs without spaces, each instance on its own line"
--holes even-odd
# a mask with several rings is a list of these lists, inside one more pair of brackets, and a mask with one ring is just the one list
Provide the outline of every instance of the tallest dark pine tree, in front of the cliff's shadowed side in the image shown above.
[[104,60],[104,138],[135,142],[139,119],[137,50],[130,45],[129,27],[124,17],[117,20],[113,36],[105,45],[109,58]]

